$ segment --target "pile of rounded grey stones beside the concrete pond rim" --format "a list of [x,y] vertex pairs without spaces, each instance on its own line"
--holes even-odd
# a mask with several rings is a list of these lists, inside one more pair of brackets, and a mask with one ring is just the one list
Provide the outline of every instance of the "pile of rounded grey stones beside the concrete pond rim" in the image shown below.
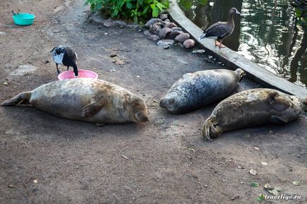
[[151,18],[146,24],[149,30],[144,31],[144,35],[148,35],[149,40],[157,41],[158,45],[168,48],[175,42],[183,43],[186,49],[195,46],[195,41],[190,39],[190,34],[183,30],[175,23],[171,23],[168,14],[161,14],[159,18]]

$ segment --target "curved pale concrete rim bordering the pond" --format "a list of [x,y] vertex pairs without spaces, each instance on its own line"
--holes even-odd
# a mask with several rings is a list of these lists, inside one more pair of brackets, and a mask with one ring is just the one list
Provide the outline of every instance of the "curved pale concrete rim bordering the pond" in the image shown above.
[[168,8],[168,13],[170,14],[170,18],[172,18],[175,23],[180,25],[185,32],[190,33],[190,36],[195,40],[195,42],[204,47],[206,52],[216,56],[220,61],[226,64],[226,66],[232,69],[238,67],[242,68],[248,78],[252,78],[257,83],[264,84],[269,88],[281,90],[299,97],[307,97],[307,90],[305,88],[291,83],[270,71],[267,71],[267,69],[253,63],[253,61],[246,59],[237,52],[234,52],[227,47],[223,49],[215,47],[214,40],[212,39],[204,38],[203,40],[198,40],[198,37],[202,35],[203,31],[185,16],[183,11],[179,8],[176,0],[170,0],[170,8]]

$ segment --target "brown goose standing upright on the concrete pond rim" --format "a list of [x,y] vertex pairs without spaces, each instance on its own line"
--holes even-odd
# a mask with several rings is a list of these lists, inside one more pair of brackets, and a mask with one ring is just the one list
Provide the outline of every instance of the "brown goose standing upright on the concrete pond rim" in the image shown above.
[[[204,34],[199,37],[199,40],[202,40],[204,37],[215,39],[215,46],[225,47],[221,42],[231,35],[235,28],[235,23],[233,22],[233,15],[241,13],[236,8],[231,8],[229,10],[228,20],[226,22],[217,22],[211,25],[207,30],[204,30]],[[217,43],[219,42],[219,43]]]

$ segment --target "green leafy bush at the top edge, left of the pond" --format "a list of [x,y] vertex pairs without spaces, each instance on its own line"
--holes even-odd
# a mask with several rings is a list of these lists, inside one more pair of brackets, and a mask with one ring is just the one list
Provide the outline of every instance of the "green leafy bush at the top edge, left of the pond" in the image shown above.
[[91,5],[91,11],[103,11],[111,18],[133,19],[134,22],[157,17],[161,11],[168,8],[168,0],[86,0]]

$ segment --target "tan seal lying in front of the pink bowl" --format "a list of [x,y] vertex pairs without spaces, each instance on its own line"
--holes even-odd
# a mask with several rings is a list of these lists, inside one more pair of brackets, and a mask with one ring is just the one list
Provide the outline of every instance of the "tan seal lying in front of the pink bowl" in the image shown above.
[[100,124],[141,123],[148,120],[143,100],[128,90],[104,80],[76,78],[41,85],[2,103],[29,103],[49,114]]

